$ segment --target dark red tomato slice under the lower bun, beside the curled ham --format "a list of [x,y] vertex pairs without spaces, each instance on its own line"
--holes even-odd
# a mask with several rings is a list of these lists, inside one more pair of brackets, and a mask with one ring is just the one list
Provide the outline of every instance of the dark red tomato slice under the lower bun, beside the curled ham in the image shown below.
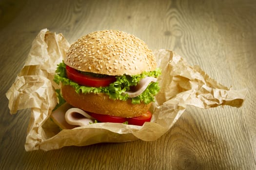
[[114,117],[114,116],[109,116],[109,115],[101,115],[101,114],[96,114],[96,113],[88,113],[88,114],[100,122],[123,123],[126,121],[126,118]]

